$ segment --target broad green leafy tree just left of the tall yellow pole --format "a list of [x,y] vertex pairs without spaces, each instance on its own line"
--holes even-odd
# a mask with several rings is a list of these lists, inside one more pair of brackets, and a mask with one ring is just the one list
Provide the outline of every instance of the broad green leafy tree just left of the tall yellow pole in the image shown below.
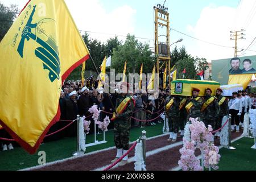
[[119,45],[118,48],[113,49],[112,68],[115,69],[115,73],[122,73],[123,66],[127,60],[126,73],[139,73],[141,64],[143,63],[143,72],[151,73],[152,67],[155,64],[154,57],[150,51],[148,44],[142,44],[134,35],[128,34],[126,41],[123,45]]

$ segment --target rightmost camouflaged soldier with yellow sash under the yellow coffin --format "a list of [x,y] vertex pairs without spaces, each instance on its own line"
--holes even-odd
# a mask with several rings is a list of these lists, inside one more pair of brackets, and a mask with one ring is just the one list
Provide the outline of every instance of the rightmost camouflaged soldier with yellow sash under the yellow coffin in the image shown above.
[[[220,106],[220,112],[218,113],[218,118],[216,121],[216,129],[221,127],[224,115],[229,115],[229,100],[221,95],[222,92],[223,91],[220,88],[216,90],[216,98],[218,100],[218,105]],[[220,137],[220,131],[217,132],[217,137]]]

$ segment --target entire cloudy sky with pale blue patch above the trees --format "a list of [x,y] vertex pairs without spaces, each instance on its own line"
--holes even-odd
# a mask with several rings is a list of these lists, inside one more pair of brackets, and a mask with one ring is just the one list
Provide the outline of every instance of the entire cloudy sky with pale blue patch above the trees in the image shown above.
[[[0,2],[5,5],[14,3],[22,9],[27,0]],[[139,41],[147,42],[150,47],[154,47],[153,6],[158,3],[163,5],[164,0],[65,2],[79,30],[88,31],[90,38],[105,42],[118,35],[119,39],[124,40],[125,35],[130,33],[138,37]],[[171,31],[171,43],[183,38],[183,42],[177,43],[177,46],[184,45],[192,56],[205,57],[208,61],[233,57],[234,41],[230,40],[232,30],[246,30],[246,39],[238,40],[239,48],[246,49],[255,39],[256,0],[166,0],[164,6],[168,7],[172,29],[199,39]],[[256,55],[256,40],[247,51],[239,52],[238,55]]]

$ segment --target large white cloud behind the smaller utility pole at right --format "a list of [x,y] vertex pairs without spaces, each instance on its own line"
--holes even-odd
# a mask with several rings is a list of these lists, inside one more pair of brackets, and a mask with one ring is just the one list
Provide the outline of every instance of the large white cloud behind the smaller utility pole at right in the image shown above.
[[[201,11],[200,18],[197,20],[195,27],[188,25],[187,30],[193,32],[193,36],[198,39],[222,46],[234,47],[234,41],[230,40],[230,31],[246,28],[246,40],[238,40],[238,47],[247,48],[256,36],[256,19],[253,16],[255,15],[254,6],[256,6],[256,3],[254,4],[254,2],[256,1],[241,2],[241,6],[238,9],[227,6],[217,7],[215,5],[205,7]],[[245,27],[246,22],[248,22],[247,24],[250,22],[250,25],[247,27]],[[256,50],[255,46],[250,49]],[[234,56],[233,48],[213,46],[199,41],[191,43],[186,47],[188,47],[188,52],[191,52],[192,55],[205,57],[208,61]],[[256,52],[247,51],[243,56],[255,54]]]

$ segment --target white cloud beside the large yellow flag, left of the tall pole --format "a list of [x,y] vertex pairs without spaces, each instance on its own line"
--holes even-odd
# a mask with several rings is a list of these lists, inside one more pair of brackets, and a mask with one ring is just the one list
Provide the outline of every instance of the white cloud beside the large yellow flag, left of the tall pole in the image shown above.
[[114,35],[108,34],[127,35],[134,33],[136,10],[130,6],[119,6],[117,9],[109,11],[98,0],[65,0],[65,2],[79,30],[104,32],[104,34],[89,32],[90,37],[94,39],[105,42],[114,37]]

